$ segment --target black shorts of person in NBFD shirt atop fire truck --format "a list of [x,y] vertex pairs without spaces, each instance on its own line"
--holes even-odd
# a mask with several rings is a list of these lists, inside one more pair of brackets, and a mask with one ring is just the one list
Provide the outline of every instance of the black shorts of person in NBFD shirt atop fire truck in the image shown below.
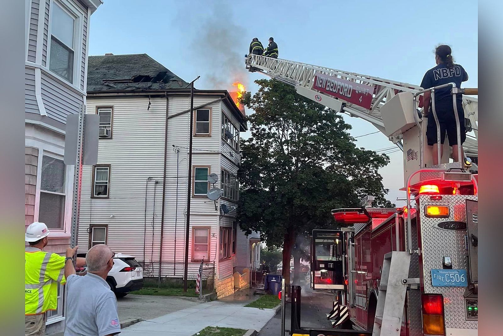
[[[461,136],[461,144],[466,140],[466,130],[465,130],[465,114],[463,107],[458,104],[458,117],[459,117],[459,132]],[[445,133],[447,132],[447,138],[449,139],[449,145],[457,145],[457,131],[456,131],[456,118],[454,116],[454,108],[449,104],[440,105],[437,104],[435,111],[439,118],[440,124],[440,143],[444,144]],[[433,117],[433,112],[430,111],[428,114],[428,127],[426,129],[426,138],[428,139],[428,145],[433,146],[437,144],[437,123]]]

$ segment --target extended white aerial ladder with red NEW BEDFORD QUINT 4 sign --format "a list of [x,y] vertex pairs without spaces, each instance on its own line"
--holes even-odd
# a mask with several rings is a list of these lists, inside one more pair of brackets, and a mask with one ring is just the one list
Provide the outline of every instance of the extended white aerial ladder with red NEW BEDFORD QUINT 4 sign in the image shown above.
[[[381,110],[387,102],[399,93],[414,95],[420,92],[423,90],[420,86],[262,55],[247,55],[245,62],[248,71],[259,72],[278,81],[292,85],[298,94],[306,98],[338,112],[346,113],[352,117],[359,117],[372,123],[403,152],[407,153],[410,148],[419,152],[418,148],[413,148],[418,147],[418,144],[412,144],[404,134],[407,129],[399,129],[399,132],[386,129],[386,117],[383,118]],[[343,87],[343,89],[338,92],[334,92],[334,90],[337,90],[337,86],[333,90],[322,89],[320,84],[323,84],[323,81],[327,79],[339,80],[339,85],[352,85],[351,97],[348,97],[348,88],[345,91]],[[340,94],[340,92],[342,92],[342,94]],[[417,107],[422,107],[421,95],[418,97]],[[475,97],[463,96],[463,108],[465,111],[465,118],[470,120],[471,127],[469,128],[473,131],[473,136],[469,135],[463,143],[463,149],[465,156],[473,159],[478,157],[478,99]],[[464,120],[460,120],[460,122],[463,121]],[[426,132],[426,126],[423,126],[422,129],[423,132]],[[415,136],[417,137],[417,134]],[[404,149],[403,141],[407,140],[409,140],[410,146]],[[447,144],[446,147],[448,147]],[[448,153],[448,151],[444,152]],[[449,156],[445,155],[444,163],[448,162],[448,159]],[[431,164],[428,164],[428,160],[422,164],[423,167],[418,166],[417,169],[424,168],[427,165],[431,166]],[[413,167],[410,168],[413,169]]]

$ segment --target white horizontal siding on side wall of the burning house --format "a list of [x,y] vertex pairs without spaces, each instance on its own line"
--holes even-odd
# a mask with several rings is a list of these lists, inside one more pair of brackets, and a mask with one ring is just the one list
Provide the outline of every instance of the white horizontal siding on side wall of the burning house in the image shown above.
[[[169,97],[168,114],[188,109],[189,97]],[[196,96],[194,105],[215,100],[216,97]],[[143,260],[145,241],[145,277],[158,274],[160,223],[162,205],[162,174],[164,157],[164,125],[166,99],[152,97],[147,110],[147,97],[88,97],[87,113],[96,113],[96,106],[113,105],[113,139],[99,142],[98,163],[111,165],[110,198],[91,198],[91,167],[83,168],[82,198],[78,244],[88,249],[90,224],[107,224],[108,245],[116,252],[123,252]],[[212,136],[194,137],[193,166],[207,165],[211,172],[220,171],[220,118],[221,102],[212,108]],[[182,277],[185,251],[185,222],[187,206],[187,161],[189,114],[168,120],[166,192],[164,212],[164,237],[162,246],[163,277]],[[179,146],[179,147],[174,147]],[[178,160],[177,152],[179,149]],[[178,173],[177,173],[178,168]],[[148,177],[152,180],[147,181]],[[155,187],[155,181],[158,184]],[[177,186],[178,182],[178,186]],[[146,211],[145,211],[145,185]],[[218,184],[217,184],[218,185]],[[154,194],[155,188],[155,194]],[[155,211],[154,209],[155,196]],[[217,202],[217,209],[219,204]],[[146,216],[146,221],[145,221]],[[191,199],[191,228],[211,227],[210,263],[218,264],[219,210],[207,198]],[[176,233],[176,234],[175,234]],[[189,233],[192,242],[192,229]],[[175,242],[176,238],[176,242]],[[175,258],[176,251],[176,258]],[[195,279],[199,262],[192,262],[192,246],[189,248],[189,279]],[[175,267],[176,265],[176,267]],[[175,269],[176,268],[176,269]],[[232,274],[232,263],[225,268]]]

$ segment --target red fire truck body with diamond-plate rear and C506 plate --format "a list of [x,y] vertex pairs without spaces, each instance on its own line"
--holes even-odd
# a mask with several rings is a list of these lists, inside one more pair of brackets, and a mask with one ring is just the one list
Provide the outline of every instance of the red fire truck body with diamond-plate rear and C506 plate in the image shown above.
[[[469,289],[478,280],[473,279],[476,260],[470,259],[466,223],[473,219],[467,218],[467,211],[477,213],[477,196],[473,186],[466,183],[459,187],[464,193],[461,194],[449,184],[436,182],[440,185],[437,192],[427,189],[423,194],[418,192],[421,186],[415,186],[415,207],[410,211],[411,240],[412,249],[418,253],[411,256],[408,277],[419,281],[407,290],[400,335],[476,335],[478,300]],[[474,205],[467,206],[470,201]],[[337,222],[354,229],[345,232],[347,288],[342,304],[349,306],[353,325],[372,330],[374,321],[380,323],[375,313],[384,256],[406,250],[409,214],[406,208],[338,209],[332,214]],[[362,219],[367,221],[361,223]],[[432,281],[432,275],[436,277],[442,270],[456,271],[455,274],[459,270],[460,279],[444,284]],[[431,300],[437,300],[437,311],[430,309]]]

